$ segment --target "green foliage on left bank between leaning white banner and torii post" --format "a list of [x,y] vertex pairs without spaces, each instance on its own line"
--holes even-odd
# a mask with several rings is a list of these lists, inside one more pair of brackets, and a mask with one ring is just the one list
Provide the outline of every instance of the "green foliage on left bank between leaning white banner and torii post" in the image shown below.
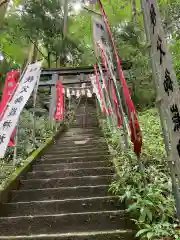
[[24,109],[18,126],[16,164],[13,165],[14,147],[9,147],[4,160],[0,164],[0,185],[3,186],[6,179],[10,177],[16,168],[23,166],[25,159],[32,151],[45,142],[48,137],[52,136],[53,132],[47,119],[46,115],[36,117],[36,145],[34,146],[33,114],[31,111]]

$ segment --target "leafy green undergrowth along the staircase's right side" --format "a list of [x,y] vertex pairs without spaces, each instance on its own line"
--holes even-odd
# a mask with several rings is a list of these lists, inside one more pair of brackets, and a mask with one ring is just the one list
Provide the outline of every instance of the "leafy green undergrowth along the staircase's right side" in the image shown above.
[[111,183],[109,191],[125,203],[138,227],[137,237],[143,240],[180,240],[158,113],[155,109],[147,110],[140,113],[139,121],[143,134],[141,161],[145,167],[144,176],[139,171],[132,148],[122,150],[120,134],[112,134],[106,120],[100,119],[117,170],[116,180]]

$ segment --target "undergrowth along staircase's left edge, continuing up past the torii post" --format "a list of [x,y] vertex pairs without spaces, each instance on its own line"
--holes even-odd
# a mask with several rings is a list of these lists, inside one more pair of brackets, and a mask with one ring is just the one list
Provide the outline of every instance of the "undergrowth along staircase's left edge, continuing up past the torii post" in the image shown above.
[[[71,106],[71,110],[66,109],[66,119],[64,124],[68,126],[73,117],[75,106]],[[13,164],[14,147],[8,147],[5,158],[0,162],[0,188],[3,189],[6,181],[11,178],[11,175],[22,167],[27,157],[38,147],[40,147],[49,137],[55,134],[55,129],[59,128],[62,121],[57,121],[54,125],[54,130],[49,122],[49,113],[40,108],[36,108],[36,112],[41,113],[35,117],[35,141],[34,141],[34,121],[33,109],[24,109],[20,115],[18,127],[17,141],[17,157]]]

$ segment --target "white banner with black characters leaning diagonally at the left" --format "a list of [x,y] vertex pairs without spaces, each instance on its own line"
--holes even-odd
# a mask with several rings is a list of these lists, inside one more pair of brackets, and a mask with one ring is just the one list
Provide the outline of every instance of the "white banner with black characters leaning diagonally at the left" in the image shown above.
[[16,127],[21,111],[40,78],[41,65],[42,61],[31,64],[27,67],[27,70],[17,87],[2,120],[0,121],[0,158],[4,157],[11,134]]

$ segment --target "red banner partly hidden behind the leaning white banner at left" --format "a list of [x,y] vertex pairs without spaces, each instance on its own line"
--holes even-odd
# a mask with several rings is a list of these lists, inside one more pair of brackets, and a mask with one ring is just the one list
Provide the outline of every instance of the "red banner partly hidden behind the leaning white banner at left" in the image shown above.
[[[4,85],[4,88],[3,88],[3,94],[2,94],[2,99],[1,99],[1,103],[0,103],[0,114],[2,114],[1,119],[3,118],[4,113],[6,111],[5,110],[6,104],[12,98],[12,93],[14,92],[14,90],[17,86],[18,77],[19,77],[19,70],[18,69],[17,70],[11,70],[6,74],[5,85]],[[3,113],[3,111],[4,111],[4,113]],[[8,146],[13,146],[14,145],[15,134],[16,134],[16,129],[14,129],[14,131],[11,135]]]

